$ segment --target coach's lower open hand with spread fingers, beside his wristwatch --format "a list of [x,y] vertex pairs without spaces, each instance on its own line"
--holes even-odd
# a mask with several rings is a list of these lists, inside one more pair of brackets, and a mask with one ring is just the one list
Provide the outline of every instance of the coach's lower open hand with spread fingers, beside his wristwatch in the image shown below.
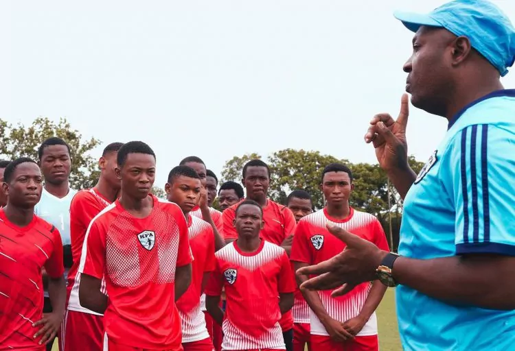
[[362,282],[376,280],[376,269],[388,252],[380,250],[374,243],[361,239],[347,230],[328,222],[328,230],[346,244],[345,250],[328,261],[318,265],[302,267],[297,274],[314,275],[301,284],[301,289],[335,289],[332,296],[348,293]]

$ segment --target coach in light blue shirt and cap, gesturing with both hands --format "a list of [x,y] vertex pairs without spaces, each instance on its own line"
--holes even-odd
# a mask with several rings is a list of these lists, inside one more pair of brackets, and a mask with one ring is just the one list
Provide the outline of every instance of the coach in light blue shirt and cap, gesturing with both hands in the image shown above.
[[415,32],[407,93],[448,119],[447,133],[415,175],[407,95],[396,121],[372,119],[365,141],[404,198],[400,256],[328,224],[347,250],[302,269],[321,274],[304,287],[339,295],[366,280],[398,285],[404,350],[515,350],[515,90],[500,82],[514,63],[514,27],[479,0],[395,16]]

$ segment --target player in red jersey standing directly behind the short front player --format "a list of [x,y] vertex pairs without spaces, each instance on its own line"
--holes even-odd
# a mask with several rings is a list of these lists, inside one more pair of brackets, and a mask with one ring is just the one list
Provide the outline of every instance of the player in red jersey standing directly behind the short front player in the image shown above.
[[[247,189],[247,199],[258,202],[263,209],[264,227],[260,235],[266,241],[275,245],[281,245],[286,252],[290,253],[290,235],[295,232],[295,217],[286,207],[267,199],[268,184],[270,184],[270,168],[262,160],[251,160],[243,167],[243,186]],[[222,213],[223,233],[226,242],[233,241],[238,237],[238,232],[233,227],[236,217],[236,208],[233,205]],[[281,328],[286,341],[286,350],[293,350],[293,317],[288,311],[281,318]]]

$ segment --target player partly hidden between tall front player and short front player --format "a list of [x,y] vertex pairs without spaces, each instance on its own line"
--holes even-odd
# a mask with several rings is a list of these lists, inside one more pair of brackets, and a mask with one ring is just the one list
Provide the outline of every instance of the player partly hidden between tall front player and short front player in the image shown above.
[[201,295],[215,265],[214,233],[209,223],[190,215],[201,197],[201,187],[198,174],[187,166],[174,167],[165,185],[168,201],[178,204],[187,219],[190,247],[194,257],[192,283],[177,300],[185,351],[214,350],[201,309]]

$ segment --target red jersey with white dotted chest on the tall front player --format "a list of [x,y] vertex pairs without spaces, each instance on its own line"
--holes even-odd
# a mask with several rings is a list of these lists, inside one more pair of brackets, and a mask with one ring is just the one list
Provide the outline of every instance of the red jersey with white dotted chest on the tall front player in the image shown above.
[[181,208],[152,198],[145,218],[117,200],[89,224],[79,271],[105,276],[109,295],[104,326],[113,343],[150,350],[181,348],[181,318],[174,298],[176,267],[192,262]]

